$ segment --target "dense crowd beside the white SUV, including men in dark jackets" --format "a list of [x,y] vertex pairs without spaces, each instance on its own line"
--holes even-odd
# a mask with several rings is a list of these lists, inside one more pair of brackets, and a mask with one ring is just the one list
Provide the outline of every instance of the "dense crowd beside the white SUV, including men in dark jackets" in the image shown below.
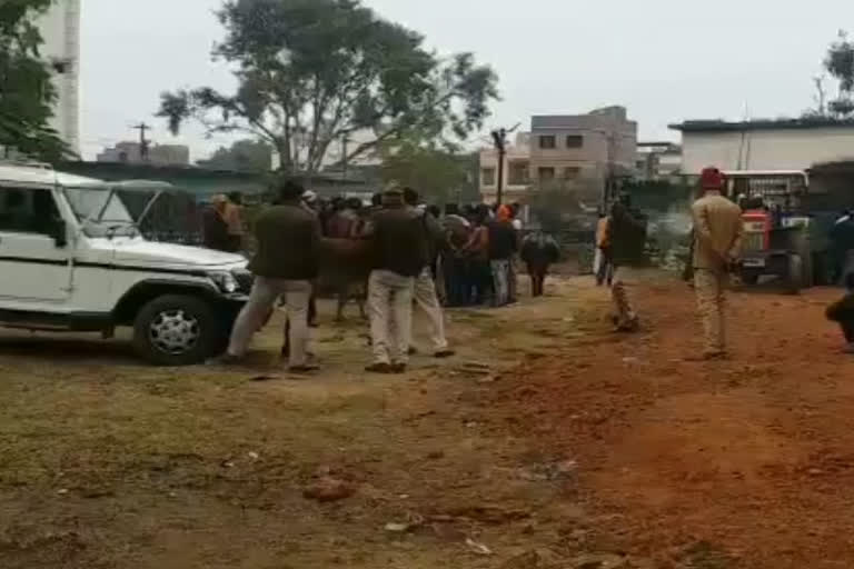
[[[366,369],[400,373],[414,351],[414,307],[428,322],[433,355],[454,356],[444,307],[516,302],[517,259],[527,264],[532,292],[539,296],[559,257],[549,236],[523,238],[517,206],[448,206],[443,212],[423,203],[414,189],[395,184],[369,206],[357,198],[321,200],[292,180],[276,194],[254,220],[249,270],[255,283],[219,363],[240,361],[281,302],[288,313],[282,355],[290,371],[316,370],[308,329],[316,325],[314,297],[325,284],[337,298],[336,320],[344,319],[351,300],[369,320],[373,362]],[[207,216],[216,218],[206,220],[205,227],[214,228],[205,237],[207,247],[235,250],[228,221],[239,211],[235,199],[212,200]]]

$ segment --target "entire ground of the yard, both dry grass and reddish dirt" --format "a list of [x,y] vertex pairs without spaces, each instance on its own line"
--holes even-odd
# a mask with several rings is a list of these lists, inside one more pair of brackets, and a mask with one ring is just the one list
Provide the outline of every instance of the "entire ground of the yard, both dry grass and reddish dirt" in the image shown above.
[[[356,319],[315,331],[308,380],[281,372],[277,322],[235,370],[3,332],[0,567],[854,566],[837,292],[734,295],[714,365],[686,360],[683,283],[632,290],[632,337],[589,279],[549,292],[451,312],[459,355],[400,378],[360,371]],[[341,499],[306,496],[324,481]]]

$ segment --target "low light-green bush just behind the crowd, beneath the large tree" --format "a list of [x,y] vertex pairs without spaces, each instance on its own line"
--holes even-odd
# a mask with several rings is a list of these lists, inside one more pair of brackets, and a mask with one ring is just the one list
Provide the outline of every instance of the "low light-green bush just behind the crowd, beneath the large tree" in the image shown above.
[[421,146],[411,141],[381,150],[380,176],[415,188],[430,202],[448,203],[471,197],[474,158],[453,149]]

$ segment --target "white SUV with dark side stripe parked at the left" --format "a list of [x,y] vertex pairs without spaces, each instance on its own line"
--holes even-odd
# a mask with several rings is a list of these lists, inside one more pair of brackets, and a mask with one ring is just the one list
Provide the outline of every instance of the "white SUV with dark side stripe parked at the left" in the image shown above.
[[153,202],[170,188],[0,164],[0,327],[109,338],[128,326],[163,366],[221,352],[251,274],[241,256],[142,238],[120,190]]

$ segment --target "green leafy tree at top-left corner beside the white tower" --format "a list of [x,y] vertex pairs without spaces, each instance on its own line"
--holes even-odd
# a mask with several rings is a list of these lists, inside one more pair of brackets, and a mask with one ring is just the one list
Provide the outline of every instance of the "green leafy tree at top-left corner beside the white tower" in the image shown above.
[[32,23],[52,0],[0,2],[0,147],[56,161],[68,147],[48,126],[57,93],[41,58],[42,38]]

